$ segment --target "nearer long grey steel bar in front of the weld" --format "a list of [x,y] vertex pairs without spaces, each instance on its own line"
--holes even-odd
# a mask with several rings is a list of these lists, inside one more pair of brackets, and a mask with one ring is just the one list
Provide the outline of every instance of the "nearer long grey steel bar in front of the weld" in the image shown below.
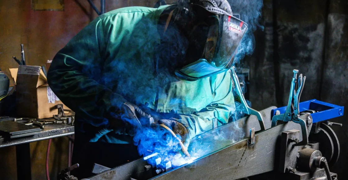
[[273,171],[278,164],[279,136],[283,131],[293,129],[300,130],[301,127],[293,122],[277,125],[256,134],[253,147],[248,147],[247,139],[243,139],[152,179],[230,180]]

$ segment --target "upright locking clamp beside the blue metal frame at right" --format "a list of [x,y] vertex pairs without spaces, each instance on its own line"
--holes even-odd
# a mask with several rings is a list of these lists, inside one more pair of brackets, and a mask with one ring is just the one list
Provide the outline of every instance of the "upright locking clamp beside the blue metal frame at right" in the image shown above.
[[300,124],[302,130],[302,141],[298,142],[296,145],[301,146],[308,143],[308,130],[306,121],[300,119],[299,112],[299,101],[302,94],[304,82],[306,81],[306,76],[302,78],[302,74],[300,74],[297,78],[297,73],[299,72],[299,70],[294,69],[293,72],[294,75],[291,81],[289,101],[287,103],[285,113],[273,116],[272,127],[277,125],[277,121],[292,121],[294,123]]

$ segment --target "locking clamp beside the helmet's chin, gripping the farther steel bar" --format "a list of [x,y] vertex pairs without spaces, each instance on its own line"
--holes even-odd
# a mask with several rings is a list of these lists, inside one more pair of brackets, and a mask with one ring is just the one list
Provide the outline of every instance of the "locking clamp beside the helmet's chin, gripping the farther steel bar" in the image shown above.
[[233,80],[233,82],[235,84],[235,90],[236,90],[236,93],[237,93],[237,95],[239,97],[239,100],[240,100],[243,112],[245,114],[247,114],[247,115],[255,115],[258,118],[258,120],[259,120],[261,131],[266,130],[266,128],[264,126],[264,122],[263,122],[262,116],[261,116],[261,113],[259,111],[256,111],[253,108],[250,108],[248,106],[248,104],[246,103],[246,101],[245,101],[245,98],[244,98],[244,95],[243,95],[243,92],[242,92],[242,88],[240,87],[240,84],[239,84],[238,76],[237,76],[237,74],[235,72],[235,66],[232,66],[231,71],[232,71],[232,80]]

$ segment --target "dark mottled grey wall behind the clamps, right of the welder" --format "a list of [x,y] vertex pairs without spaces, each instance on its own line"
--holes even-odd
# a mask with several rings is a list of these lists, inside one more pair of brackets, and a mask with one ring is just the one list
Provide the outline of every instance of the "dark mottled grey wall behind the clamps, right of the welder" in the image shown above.
[[[261,23],[255,31],[250,66],[250,101],[260,110],[287,104],[292,70],[307,77],[301,102],[317,99],[348,107],[348,1],[264,0]],[[340,158],[330,169],[345,179],[348,170],[348,111],[332,122]]]

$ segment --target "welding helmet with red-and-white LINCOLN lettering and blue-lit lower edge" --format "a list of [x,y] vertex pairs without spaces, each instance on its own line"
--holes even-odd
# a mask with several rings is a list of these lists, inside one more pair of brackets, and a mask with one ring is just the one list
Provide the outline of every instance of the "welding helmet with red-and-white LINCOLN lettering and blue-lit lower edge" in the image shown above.
[[[207,2],[210,6],[206,6]],[[189,20],[181,20],[180,23],[184,24],[184,28],[190,29],[186,34],[189,39],[197,34],[197,30],[202,31],[203,28],[199,26],[201,24],[205,25],[206,31],[204,39],[200,41],[203,45],[198,51],[188,48],[186,61],[175,68],[175,75],[181,79],[195,81],[229,70],[248,29],[247,24],[233,17],[231,12],[220,9],[214,0],[195,0],[189,7],[182,9],[185,11],[182,14],[187,14],[186,18]],[[194,15],[190,14],[190,11]],[[178,18],[173,18],[173,23],[176,19]]]

